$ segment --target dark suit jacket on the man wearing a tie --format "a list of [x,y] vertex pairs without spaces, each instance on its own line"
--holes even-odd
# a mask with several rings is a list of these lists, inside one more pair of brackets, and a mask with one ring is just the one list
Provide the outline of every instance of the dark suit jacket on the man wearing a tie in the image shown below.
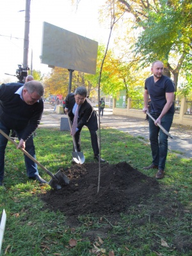
[[[75,93],[69,93],[65,99],[65,108],[68,109],[68,116],[70,120],[74,120],[74,114],[72,110],[76,104]],[[77,123],[77,128],[81,130],[83,126],[86,125],[89,129],[94,129],[97,131],[97,113],[94,111],[90,100],[85,99],[81,107],[79,108],[79,118]]]

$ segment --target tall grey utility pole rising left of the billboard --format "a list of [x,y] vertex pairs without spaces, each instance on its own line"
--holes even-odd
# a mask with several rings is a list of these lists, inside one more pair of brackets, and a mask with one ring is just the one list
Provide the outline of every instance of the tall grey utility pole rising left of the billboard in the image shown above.
[[[29,24],[30,24],[30,4],[31,0],[26,0],[26,15],[25,15],[25,31],[24,31],[24,51],[23,51],[23,70],[27,72],[28,54],[29,54]],[[24,77],[25,79],[25,77]]]

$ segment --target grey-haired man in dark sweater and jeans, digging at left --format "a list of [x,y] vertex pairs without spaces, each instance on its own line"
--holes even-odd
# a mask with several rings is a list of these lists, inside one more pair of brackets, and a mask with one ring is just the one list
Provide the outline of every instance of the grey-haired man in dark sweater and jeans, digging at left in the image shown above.
[[[25,150],[35,158],[33,132],[40,124],[44,110],[44,86],[38,81],[25,84],[9,83],[0,86],[0,129],[7,135],[14,129],[19,138],[17,148]],[[0,134],[0,186],[4,178],[4,152],[8,140]],[[36,163],[24,156],[29,179],[45,180],[38,174]]]

